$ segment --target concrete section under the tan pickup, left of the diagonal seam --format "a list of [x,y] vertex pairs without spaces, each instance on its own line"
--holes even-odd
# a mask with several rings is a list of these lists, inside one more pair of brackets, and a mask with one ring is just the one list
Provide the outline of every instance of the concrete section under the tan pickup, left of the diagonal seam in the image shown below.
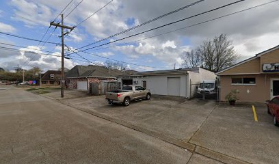
[[131,124],[188,141],[215,108],[215,102],[166,96],[138,100],[129,107],[108,105],[104,96],[63,100],[64,103],[109,115]]

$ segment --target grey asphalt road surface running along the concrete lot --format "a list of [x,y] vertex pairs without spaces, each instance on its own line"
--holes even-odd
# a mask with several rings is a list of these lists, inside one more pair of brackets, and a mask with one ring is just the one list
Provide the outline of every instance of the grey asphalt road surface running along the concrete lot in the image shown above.
[[[0,85],[0,163],[196,163],[170,143]],[[195,161],[193,161],[196,159]]]

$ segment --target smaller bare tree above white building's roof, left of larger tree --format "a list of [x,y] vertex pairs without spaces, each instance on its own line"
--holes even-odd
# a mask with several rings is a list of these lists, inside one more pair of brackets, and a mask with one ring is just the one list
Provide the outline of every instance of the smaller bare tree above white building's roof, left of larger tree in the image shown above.
[[181,56],[185,68],[196,68],[202,65],[202,56],[196,49],[187,51]]

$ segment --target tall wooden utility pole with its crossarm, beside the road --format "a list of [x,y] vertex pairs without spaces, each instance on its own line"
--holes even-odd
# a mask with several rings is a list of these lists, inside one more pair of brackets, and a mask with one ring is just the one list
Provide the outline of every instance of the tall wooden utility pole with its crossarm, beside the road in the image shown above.
[[57,27],[61,28],[61,46],[62,46],[62,49],[61,49],[61,98],[64,98],[64,86],[65,86],[64,85],[65,84],[65,79],[64,79],[64,35],[70,33],[68,31],[66,33],[64,33],[64,29],[70,29],[70,31],[72,31],[73,29],[75,29],[75,26],[70,27],[70,26],[64,25],[63,14],[61,14],[61,25],[60,25],[60,23],[54,23],[54,21],[51,22],[50,25],[55,26],[55,28],[57,28]]

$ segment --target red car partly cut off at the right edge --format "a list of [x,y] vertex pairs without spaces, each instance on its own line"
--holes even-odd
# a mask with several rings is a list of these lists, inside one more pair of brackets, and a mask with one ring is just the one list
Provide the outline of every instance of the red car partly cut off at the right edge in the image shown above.
[[274,116],[274,125],[279,126],[279,96],[267,101],[267,113]]

